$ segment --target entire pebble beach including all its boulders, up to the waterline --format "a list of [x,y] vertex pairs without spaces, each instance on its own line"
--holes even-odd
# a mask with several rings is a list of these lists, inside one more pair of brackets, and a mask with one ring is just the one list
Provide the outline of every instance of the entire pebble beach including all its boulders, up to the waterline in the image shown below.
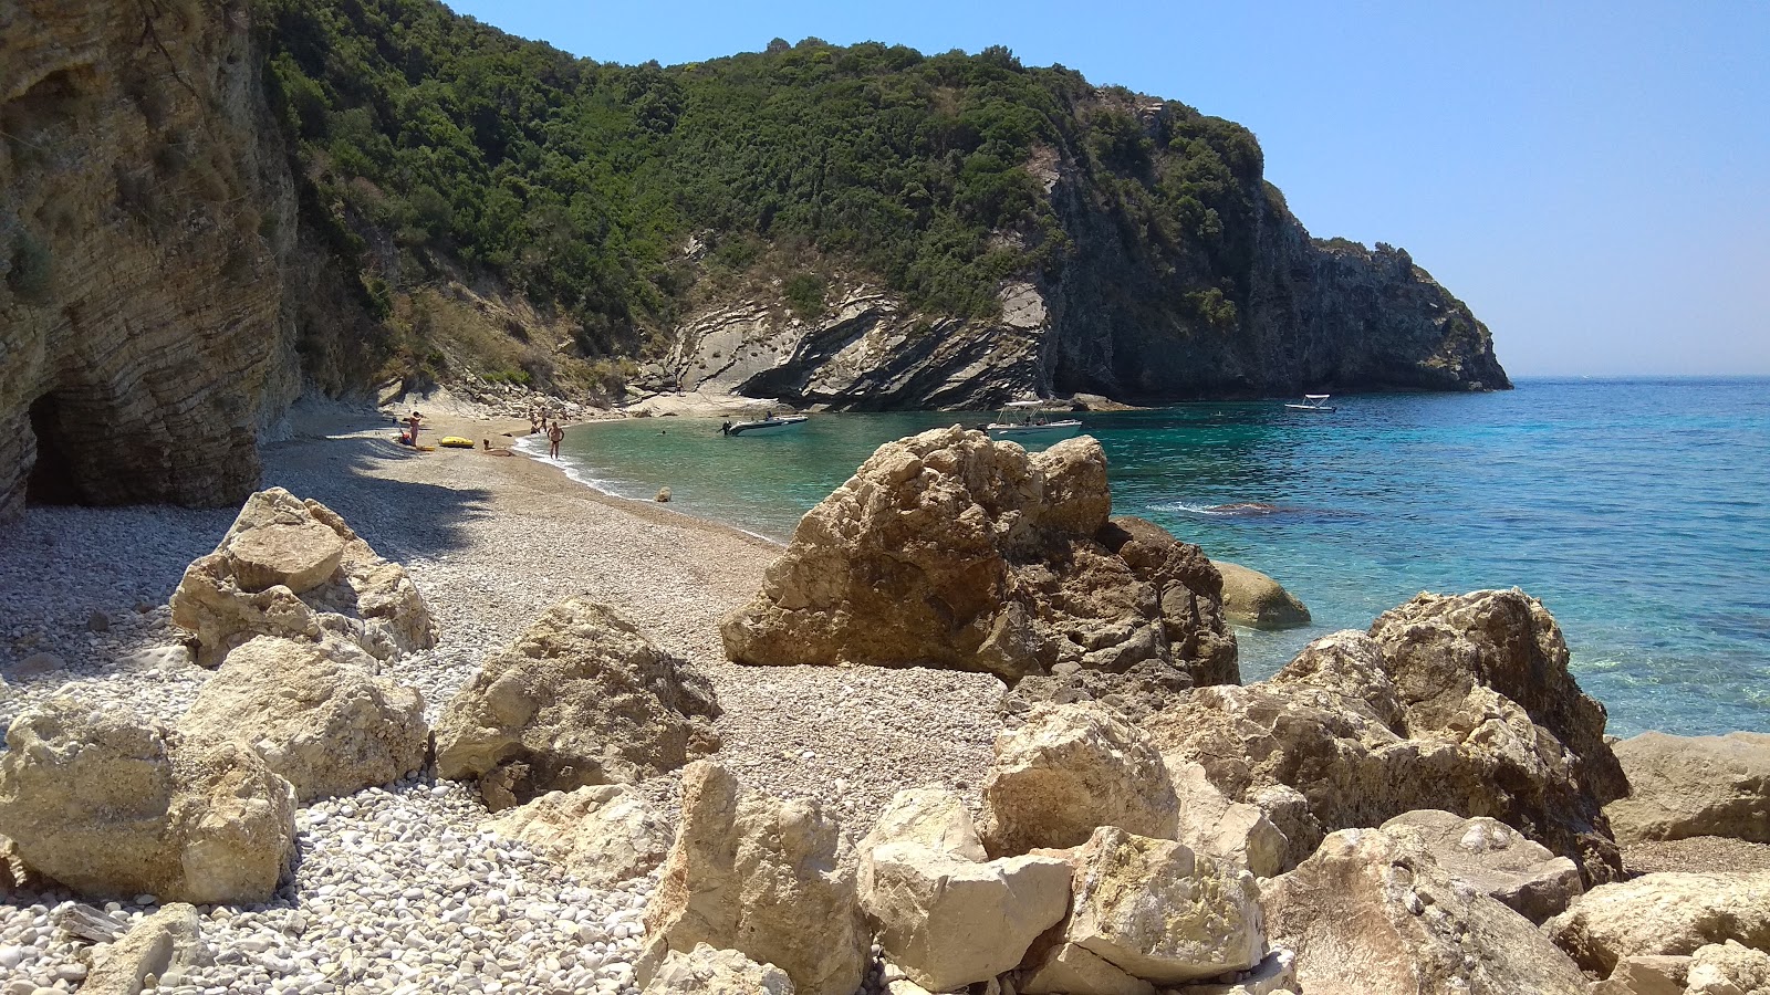
[[887,444],[781,549],[327,421],[242,508],[9,531],[5,995],[1770,977],[1770,747],[1607,738],[1522,591],[1243,685],[1087,439]]

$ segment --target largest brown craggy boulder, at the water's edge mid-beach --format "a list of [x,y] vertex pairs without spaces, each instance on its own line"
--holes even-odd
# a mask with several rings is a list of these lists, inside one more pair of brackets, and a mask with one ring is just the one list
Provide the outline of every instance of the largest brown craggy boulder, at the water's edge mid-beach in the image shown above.
[[1043,453],[958,427],[887,443],[800,519],[761,593],[720,625],[726,652],[1009,683],[1133,667],[1182,687],[1235,680],[1211,561],[1110,510],[1087,436]]

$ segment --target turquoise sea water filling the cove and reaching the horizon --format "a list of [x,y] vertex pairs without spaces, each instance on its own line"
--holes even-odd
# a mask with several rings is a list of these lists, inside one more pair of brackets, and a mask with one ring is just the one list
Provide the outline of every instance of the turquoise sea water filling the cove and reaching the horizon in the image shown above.
[[[1611,731],[1770,731],[1770,381],[1522,381],[1489,395],[1083,414],[1113,510],[1278,577],[1315,625],[1239,632],[1243,673],[1418,591],[1520,586]],[[781,436],[657,418],[568,432],[573,476],[786,538],[881,443],[986,413],[818,414]],[[1266,513],[1220,505],[1262,503]]]

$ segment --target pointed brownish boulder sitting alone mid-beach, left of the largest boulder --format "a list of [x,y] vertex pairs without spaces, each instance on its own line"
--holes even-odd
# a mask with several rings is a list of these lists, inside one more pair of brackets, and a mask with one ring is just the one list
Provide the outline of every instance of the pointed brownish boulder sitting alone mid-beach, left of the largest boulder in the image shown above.
[[704,676],[575,595],[450,701],[435,726],[437,775],[480,781],[494,811],[547,791],[637,783],[719,749],[717,715]]

